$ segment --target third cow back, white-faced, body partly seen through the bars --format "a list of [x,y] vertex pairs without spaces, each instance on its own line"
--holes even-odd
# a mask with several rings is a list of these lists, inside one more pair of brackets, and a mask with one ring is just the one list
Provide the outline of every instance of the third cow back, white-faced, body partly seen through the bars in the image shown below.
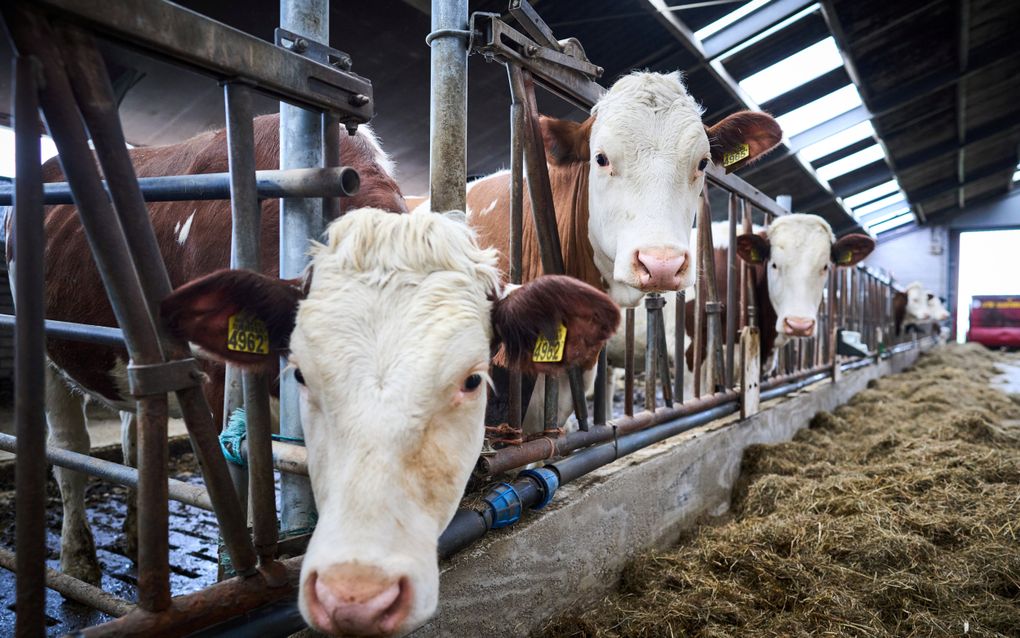
[[[723,274],[727,267],[728,223],[713,224],[712,237],[715,271]],[[836,240],[825,219],[802,213],[782,215],[767,229],[757,228],[752,233],[737,236],[736,254],[753,266],[750,301],[757,308],[755,318],[756,327],[761,332],[764,372],[774,367],[778,349],[789,340],[814,336],[829,268],[854,265],[870,254],[874,246],[874,240],[867,235],[851,234]],[[716,283],[719,298],[725,300],[726,278],[718,276]],[[687,336],[694,335],[695,331],[697,302],[694,296],[693,290],[687,292],[684,317]],[[724,307],[721,315],[723,326],[725,312]],[[634,313],[634,349],[639,353],[644,352],[645,347],[646,316],[647,313],[641,310]],[[667,298],[663,316],[669,336],[675,321],[675,302],[672,299]],[[704,347],[705,341],[702,343]],[[669,345],[671,340],[667,341],[667,349]],[[620,335],[610,341],[607,353],[611,364],[622,365]],[[704,350],[702,354],[704,360]],[[672,359],[673,351],[670,350],[669,355]],[[694,369],[694,349],[690,347],[686,349],[686,364],[688,371]],[[685,382],[692,379],[692,375],[684,377]],[[688,385],[684,393],[690,395],[691,390]]]

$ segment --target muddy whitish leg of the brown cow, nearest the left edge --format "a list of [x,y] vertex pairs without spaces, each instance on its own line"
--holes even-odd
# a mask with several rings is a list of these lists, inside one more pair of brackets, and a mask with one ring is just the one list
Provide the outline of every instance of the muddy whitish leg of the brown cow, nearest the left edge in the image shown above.
[[[46,367],[46,423],[49,444],[80,454],[90,450],[82,397],[74,395],[55,370]],[[63,521],[60,529],[60,570],[87,583],[98,585],[101,571],[96,542],[85,510],[85,475],[54,465]]]

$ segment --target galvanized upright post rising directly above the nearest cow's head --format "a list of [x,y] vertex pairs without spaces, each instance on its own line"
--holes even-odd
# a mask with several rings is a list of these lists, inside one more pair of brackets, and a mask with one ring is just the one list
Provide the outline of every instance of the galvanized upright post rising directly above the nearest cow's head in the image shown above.
[[429,43],[428,195],[432,210],[465,210],[467,200],[467,0],[432,0]]

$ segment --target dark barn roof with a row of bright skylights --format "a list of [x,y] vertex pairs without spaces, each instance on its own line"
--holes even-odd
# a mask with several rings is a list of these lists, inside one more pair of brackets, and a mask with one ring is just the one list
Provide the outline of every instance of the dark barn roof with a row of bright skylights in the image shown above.
[[[277,3],[181,4],[271,39]],[[427,188],[427,0],[334,3],[332,45],[375,87],[374,124],[408,192]],[[940,222],[1012,188],[1020,145],[1020,4],[997,0],[534,0],[557,37],[576,37],[609,84],[632,68],[681,69],[706,121],[763,108],[780,149],[738,175],[789,194],[837,231]],[[243,7],[243,9],[242,9]],[[471,10],[503,12],[506,0]],[[0,44],[0,57],[11,55]],[[160,144],[221,126],[211,81],[128,50],[105,54],[123,94],[128,139]],[[0,59],[0,91],[10,64]],[[502,69],[472,58],[469,171],[506,165]],[[275,103],[259,103],[262,111]],[[540,97],[544,111],[580,117]],[[3,110],[3,109],[0,109]]]

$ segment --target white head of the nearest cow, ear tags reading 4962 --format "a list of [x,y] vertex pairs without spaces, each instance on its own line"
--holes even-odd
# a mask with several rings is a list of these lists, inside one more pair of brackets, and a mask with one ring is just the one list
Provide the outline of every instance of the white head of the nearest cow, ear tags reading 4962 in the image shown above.
[[[402,635],[435,611],[437,543],[481,450],[494,349],[556,374],[593,364],[619,323],[605,293],[564,277],[500,295],[496,253],[462,219],[352,211],[313,248],[307,287],[220,271],[162,303],[167,327],[204,351],[270,370],[285,355],[301,383],[318,524],[299,600],[319,631]],[[239,316],[267,347],[231,349]],[[560,326],[560,360],[532,362]]]

